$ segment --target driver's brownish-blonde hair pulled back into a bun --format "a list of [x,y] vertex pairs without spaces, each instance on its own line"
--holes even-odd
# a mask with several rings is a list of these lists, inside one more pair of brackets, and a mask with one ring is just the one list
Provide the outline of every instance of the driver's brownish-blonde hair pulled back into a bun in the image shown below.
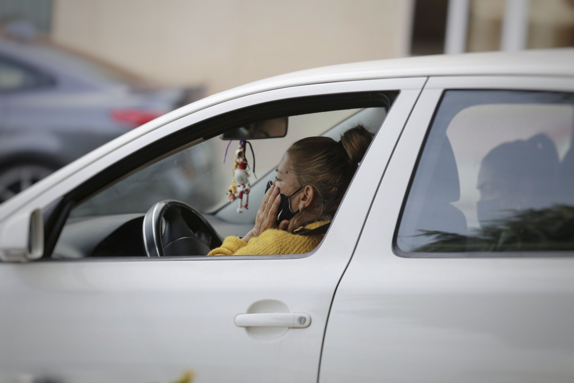
[[372,133],[363,125],[356,125],[345,131],[340,141],[307,137],[287,149],[298,183],[311,185],[317,193],[308,212],[315,215],[312,221],[333,218],[372,140]]

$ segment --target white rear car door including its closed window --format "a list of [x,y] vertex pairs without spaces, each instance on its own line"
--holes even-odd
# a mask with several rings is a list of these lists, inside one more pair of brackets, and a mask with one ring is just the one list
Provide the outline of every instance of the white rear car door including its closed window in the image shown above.
[[573,92],[428,80],[333,299],[321,382],[574,380]]

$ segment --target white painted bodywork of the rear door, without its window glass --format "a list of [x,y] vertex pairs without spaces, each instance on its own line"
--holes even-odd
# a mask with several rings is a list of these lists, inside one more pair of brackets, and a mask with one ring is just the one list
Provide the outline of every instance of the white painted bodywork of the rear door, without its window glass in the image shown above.
[[[393,234],[445,89],[574,91],[574,78],[429,78],[329,314],[320,382],[572,382],[574,258],[403,258]],[[548,255],[548,254],[546,254]]]

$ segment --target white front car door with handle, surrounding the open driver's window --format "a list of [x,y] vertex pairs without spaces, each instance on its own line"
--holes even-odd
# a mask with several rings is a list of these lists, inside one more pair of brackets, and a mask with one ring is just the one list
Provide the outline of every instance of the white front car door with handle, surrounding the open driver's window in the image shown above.
[[[105,175],[103,169],[117,171],[138,149],[246,106],[313,95],[400,91],[374,138],[377,150],[369,151],[360,164],[315,252],[0,265],[0,299],[7,313],[0,317],[0,380],[25,375],[108,382],[186,376],[194,382],[316,381],[333,292],[424,82],[410,78],[314,84],[222,102],[127,142],[30,201],[24,209],[46,210],[70,191],[95,183]],[[246,314],[255,316],[238,317]],[[295,315],[290,324],[258,326],[277,314]]]

